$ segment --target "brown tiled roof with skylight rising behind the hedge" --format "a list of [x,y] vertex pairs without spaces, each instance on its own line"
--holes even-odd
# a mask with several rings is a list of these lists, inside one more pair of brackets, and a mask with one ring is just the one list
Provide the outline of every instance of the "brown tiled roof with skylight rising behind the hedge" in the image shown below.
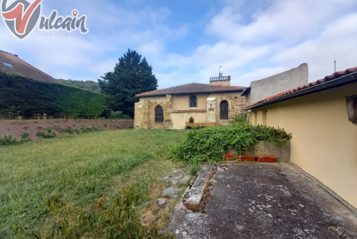
[[[2,62],[10,63],[14,68],[7,67]],[[14,54],[5,51],[0,51],[0,71],[3,71],[7,74],[29,77],[35,80],[52,82],[58,81],[57,79],[31,66],[29,63],[21,60]]]

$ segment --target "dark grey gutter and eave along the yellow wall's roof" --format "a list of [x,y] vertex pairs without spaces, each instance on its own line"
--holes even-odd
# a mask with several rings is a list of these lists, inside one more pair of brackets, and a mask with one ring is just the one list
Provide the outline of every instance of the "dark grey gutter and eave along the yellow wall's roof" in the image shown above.
[[268,105],[268,104],[272,104],[272,103],[276,103],[276,102],[280,102],[283,100],[288,100],[288,99],[292,99],[295,97],[299,97],[302,95],[307,95],[307,94],[311,94],[311,93],[315,93],[315,92],[319,92],[322,90],[326,90],[326,89],[330,89],[330,88],[335,88],[335,87],[339,87],[342,85],[347,85],[353,82],[357,81],[357,72],[353,72],[351,74],[348,74],[346,76],[342,76],[333,80],[329,80],[328,82],[323,82],[320,83],[318,85],[314,85],[312,87],[308,87],[302,90],[298,90],[296,92],[287,94],[287,95],[283,95],[281,97],[272,99],[272,100],[268,100],[250,107],[247,107],[246,110],[250,110],[250,109],[254,109],[254,108],[259,108],[262,107],[264,105]]

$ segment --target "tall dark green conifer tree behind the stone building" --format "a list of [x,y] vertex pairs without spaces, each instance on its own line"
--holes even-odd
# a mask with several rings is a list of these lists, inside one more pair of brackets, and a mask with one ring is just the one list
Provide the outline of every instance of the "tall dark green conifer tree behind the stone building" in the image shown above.
[[130,48],[119,58],[114,71],[105,73],[98,83],[101,92],[108,96],[107,106],[130,116],[134,116],[134,103],[139,101],[135,95],[158,87],[146,58],[141,59],[141,55]]

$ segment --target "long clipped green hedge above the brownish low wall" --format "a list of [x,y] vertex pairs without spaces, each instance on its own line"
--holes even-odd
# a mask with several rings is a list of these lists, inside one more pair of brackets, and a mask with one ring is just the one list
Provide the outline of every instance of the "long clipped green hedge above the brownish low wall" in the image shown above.
[[99,116],[105,95],[57,82],[42,82],[0,72],[0,114],[72,117]]

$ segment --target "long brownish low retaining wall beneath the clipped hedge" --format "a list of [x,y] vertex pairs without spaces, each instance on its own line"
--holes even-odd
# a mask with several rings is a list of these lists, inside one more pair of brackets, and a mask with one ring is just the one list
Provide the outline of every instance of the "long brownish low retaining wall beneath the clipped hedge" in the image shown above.
[[36,133],[45,132],[47,127],[51,127],[56,135],[64,135],[66,133],[58,132],[55,128],[70,127],[81,131],[80,128],[85,125],[104,130],[128,129],[134,125],[134,120],[0,120],[0,135],[9,134],[19,138],[23,131],[29,131],[31,141],[34,141]]

